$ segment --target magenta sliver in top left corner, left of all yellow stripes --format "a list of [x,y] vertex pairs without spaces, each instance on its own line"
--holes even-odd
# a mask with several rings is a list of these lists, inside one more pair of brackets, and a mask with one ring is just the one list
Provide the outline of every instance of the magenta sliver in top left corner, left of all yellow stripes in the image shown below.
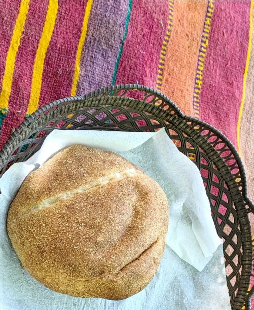
[[0,91],[5,70],[5,61],[10,46],[13,29],[19,14],[19,1],[1,1],[0,16]]

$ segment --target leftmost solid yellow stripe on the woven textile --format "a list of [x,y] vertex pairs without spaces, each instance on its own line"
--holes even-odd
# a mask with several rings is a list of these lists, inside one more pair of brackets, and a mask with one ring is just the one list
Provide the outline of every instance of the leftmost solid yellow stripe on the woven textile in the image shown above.
[[11,95],[11,85],[14,73],[15,60],[18,48],[20,46],[20,39],[22,38],[22,33],[24,31],[28,8],[29,0],[21,1],[19,15],[13,29],[11,44],[9,46],[6,57],[5,71],[2,80],[2,91],[0,94],[0,108],[2,109],[8,109],[8,101]]

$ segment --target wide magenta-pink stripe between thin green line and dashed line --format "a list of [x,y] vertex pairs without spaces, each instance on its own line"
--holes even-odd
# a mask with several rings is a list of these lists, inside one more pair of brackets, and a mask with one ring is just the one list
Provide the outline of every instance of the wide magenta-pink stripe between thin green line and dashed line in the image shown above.
[[133,1],[116,84],[138,81],[139,84],[156,87],[167,20],[168,1]]

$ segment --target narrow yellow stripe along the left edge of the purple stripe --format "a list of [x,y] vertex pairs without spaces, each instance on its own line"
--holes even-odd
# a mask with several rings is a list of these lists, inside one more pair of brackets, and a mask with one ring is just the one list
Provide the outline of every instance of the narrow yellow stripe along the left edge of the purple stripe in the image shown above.
[[80,58],[81,58],[82,48],[83,48],[85,38],[86,38],[87,24],[88,24],[88,19],[89,19],[90,12],[91,12],[92,4],[93,4],[93,0],[88,0],[86,4],[83,26],[82,26],[81,35],[79,38],[79,45],[78,45],[77,55],[76,55],[75,71],[74,71],[72,87],[71,87],[72,96],[76,95],[76,91],[77,91],[77,84],[78,84],[79,74],[80,74],[80,66],[79,66]]

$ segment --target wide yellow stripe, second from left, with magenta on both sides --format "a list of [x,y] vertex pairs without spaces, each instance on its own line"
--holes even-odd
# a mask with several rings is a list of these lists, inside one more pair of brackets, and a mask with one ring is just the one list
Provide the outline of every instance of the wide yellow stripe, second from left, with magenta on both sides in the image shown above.
[[52,33],[55,27],[57,19],[57,11],[58,11],[58,2],[56,0],[49,0],[45,23],[43,26],[41,38],[39,41],[39,45],[34,60],[32,86],[31,86],[31,93],[27,114],[34,113],[34,111],[38,109],[44,61],[46,57],[46,52],[48,50],[49,42],[51,40]]

